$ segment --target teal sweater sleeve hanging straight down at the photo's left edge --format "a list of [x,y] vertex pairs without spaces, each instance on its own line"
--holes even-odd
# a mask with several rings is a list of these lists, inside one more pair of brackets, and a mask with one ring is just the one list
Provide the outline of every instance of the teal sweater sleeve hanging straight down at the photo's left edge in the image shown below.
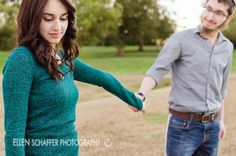
[[28,99],[33,81],[30,53],[16,49],[3,69],[3,101],[6,156],[24,156]]

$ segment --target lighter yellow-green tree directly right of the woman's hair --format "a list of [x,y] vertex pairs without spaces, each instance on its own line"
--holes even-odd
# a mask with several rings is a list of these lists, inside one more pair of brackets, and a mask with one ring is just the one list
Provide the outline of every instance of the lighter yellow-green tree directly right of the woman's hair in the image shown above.
[[80,45],[104,44],[121,25],[121,5],[110,6],[110,0],[80,0],[77,2],[78,42]]

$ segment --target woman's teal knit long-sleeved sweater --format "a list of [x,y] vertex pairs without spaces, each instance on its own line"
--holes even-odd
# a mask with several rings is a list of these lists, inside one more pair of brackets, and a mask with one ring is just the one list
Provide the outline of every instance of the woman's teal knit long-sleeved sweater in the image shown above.
[[[139,110],[142,101],[111,74],[79,59],[63,80],[54,80],[37,63],[31,51],[20,46],[9,56],[3,69],[3,100],[6,156],[77,156],[74,122],[78,90],[74,80],[103,87]],[[96,94],[96,93],[95,93]],[[73,142],[73,143],[72,143]]]

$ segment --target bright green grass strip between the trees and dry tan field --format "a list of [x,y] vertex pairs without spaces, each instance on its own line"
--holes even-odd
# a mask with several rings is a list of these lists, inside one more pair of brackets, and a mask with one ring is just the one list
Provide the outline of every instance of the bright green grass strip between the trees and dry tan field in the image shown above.
[[[160,49],[146,46],[144,52],[138,52],[137,46],[128,46],[123,57],[117,57],[115,47],[84,47],[80,56],[86,63],[113,74],[143,74],[154,63]],[[233,56],[232,70],[236,71],[236,50]],[[0,71],[9,53],[0,51]]]

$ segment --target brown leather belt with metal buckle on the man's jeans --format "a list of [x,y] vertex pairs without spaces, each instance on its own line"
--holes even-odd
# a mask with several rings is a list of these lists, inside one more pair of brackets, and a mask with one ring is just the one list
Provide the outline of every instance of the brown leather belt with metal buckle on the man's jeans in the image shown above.
[[211,114],[185,113],[185,112],[178,112],[171,108],[169,108],[169,111],[172,115],[176,117],[183,118],[183,119],[192,119],[192,120],[200,121],[203,123],[215,120],[219,114],[218,111]]

